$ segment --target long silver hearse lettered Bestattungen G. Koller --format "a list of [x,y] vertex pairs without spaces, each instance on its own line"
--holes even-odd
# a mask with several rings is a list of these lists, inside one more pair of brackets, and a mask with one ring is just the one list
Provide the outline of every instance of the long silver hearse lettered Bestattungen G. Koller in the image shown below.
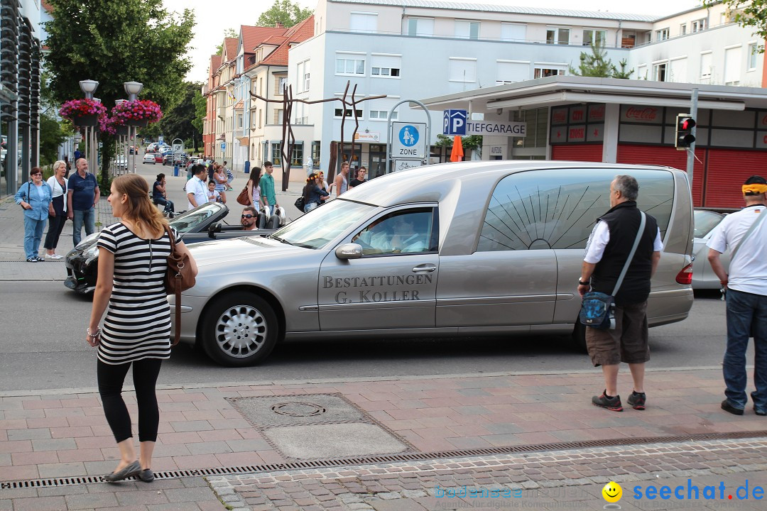
[[183,293],[181,337],[230,366],[262,361],[281,339],[572,333],[582,343],[581,261],[617,174],[637,178],[663,237],[650,326],[681,321],[693,304],[683,172],[461,162],[384,175],[268,237],[190,247],[199,275]]

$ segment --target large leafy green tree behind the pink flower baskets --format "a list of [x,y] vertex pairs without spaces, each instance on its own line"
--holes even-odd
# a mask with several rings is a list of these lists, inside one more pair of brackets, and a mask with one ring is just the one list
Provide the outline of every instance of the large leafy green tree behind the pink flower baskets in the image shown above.
[[[162,0],[50,0],[45,57],[57,103],[82,97],[80,80],[97,80],[96,96],[110,109],[126,96],[123,83],[143,84],[141,97],[173,109],[183,99],[183,76],[194,27],[193,11],[169,13]],[[108,182],[114,137],[101,136],[102,182]]]

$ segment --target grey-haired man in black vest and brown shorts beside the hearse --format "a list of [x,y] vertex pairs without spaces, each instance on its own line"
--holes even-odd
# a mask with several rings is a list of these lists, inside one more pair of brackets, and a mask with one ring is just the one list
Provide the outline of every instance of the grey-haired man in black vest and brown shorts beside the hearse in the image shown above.
[[[610,184],[610,211],[607,211],[591,231],[586,255],[578,280],[578,293],[592,291],[612,294],[615,283],[639,231],[641,213],[637,208],[639,184],[630,175],[616,175]],[[647,221],[637,251],[631,260],[620,289],[615,294],[615,328],[586,327],[586,346],[594,366],[601,365],[604,392],[591,402],[612,411],[623,411],[617,394],[618,368],[626,362],[634,379],[634,391],[628,404],[644,410],[644,363],[650,360],[647,345],[647,297],[650,278],[660,261],[663,243],[657,221],[645,214]]]

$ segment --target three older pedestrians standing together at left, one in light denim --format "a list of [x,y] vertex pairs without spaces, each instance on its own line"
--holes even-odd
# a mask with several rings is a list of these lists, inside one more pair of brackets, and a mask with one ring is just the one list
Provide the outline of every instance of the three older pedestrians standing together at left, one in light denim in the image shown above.
[[[100,191],[96,177],[88,172],[88,162],[81,158],[75,161],[77,172],[65,178],[67,162],[58,160],[53,164],[52,175],[47,182],[39,167],[29,172],[29,181],[18,188],[16,204],[24,210],[24,251],[28,263],[46,259],[61,259],[56,247],[64,229],[64,223],[73,223],[72,242],[80,244],[82,230],[90,235],[96,231],[96,205]],[[40,257],[40,242],[48,224],[45,237],[45,257]]]

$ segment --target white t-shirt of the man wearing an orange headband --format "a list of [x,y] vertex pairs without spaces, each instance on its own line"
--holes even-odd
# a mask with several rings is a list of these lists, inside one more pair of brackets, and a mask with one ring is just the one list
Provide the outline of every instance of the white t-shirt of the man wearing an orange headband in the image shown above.
[[[729,249],[732,254],[759,215],[767,215],[765,209],[763,205],[749,206],[727,215],[714,228],[706,246],[722,254]],[[727,287],[736,291],[767,295],[767,218],[759,222],[735,258],[730,259],[727,280]]]

